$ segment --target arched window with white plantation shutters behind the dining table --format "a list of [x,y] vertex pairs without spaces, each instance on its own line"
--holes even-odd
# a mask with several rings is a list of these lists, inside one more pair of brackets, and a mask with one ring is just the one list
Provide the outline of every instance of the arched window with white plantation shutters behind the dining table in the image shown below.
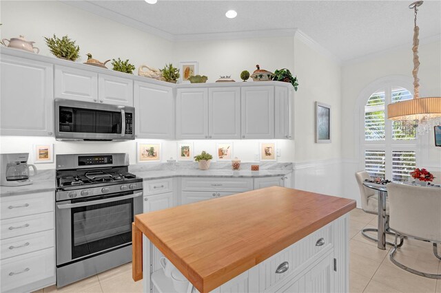
[[411,180],[416,168],[416,131],[402,122],[387,120],[387,105],[413,98],[404,87],[387,84],[371,93],[364,106],[365,170],[393,181]]

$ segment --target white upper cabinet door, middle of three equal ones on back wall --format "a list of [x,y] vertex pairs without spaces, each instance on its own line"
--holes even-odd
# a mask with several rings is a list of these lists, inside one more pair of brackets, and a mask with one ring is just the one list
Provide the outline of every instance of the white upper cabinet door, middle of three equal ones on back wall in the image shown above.
[[240,89],[214,87],[208,90],[208,137],[240,139]]

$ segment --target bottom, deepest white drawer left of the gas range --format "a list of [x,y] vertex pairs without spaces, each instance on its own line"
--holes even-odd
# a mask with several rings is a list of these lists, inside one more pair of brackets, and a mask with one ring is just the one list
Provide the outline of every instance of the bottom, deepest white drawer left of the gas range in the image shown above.
[[1,261],[1,292],[55,278],[55,249],[48,248]]

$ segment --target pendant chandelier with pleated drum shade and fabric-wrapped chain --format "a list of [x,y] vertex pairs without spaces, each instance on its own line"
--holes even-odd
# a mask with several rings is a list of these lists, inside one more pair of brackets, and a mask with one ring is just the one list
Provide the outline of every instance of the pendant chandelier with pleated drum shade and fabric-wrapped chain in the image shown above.
[[418,7],[423,1],[416,1],[409,5],[414,10],[414,28],[413,28],[413,99],[394,102],[387,106],[387,119],[403,121],[404,125],[417,124],[417,133],[422,135],[429,132],[429,129],[435,125],[441,124],[441,97],[420,98],[420,78],[418,78],[418,69],[420,61],[418,57],[418,34],[420,28],[416,25],[416,14]]

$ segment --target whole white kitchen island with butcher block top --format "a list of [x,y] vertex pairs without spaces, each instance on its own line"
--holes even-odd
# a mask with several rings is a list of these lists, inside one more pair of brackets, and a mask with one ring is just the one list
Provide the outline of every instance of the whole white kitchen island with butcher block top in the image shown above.
[[136,215],[133,278],[144,279],[144,292],[166,290],[152,282],[151,242],[199,292],[346,292],[346,214],[355,207],[351,199],[269,187]]

